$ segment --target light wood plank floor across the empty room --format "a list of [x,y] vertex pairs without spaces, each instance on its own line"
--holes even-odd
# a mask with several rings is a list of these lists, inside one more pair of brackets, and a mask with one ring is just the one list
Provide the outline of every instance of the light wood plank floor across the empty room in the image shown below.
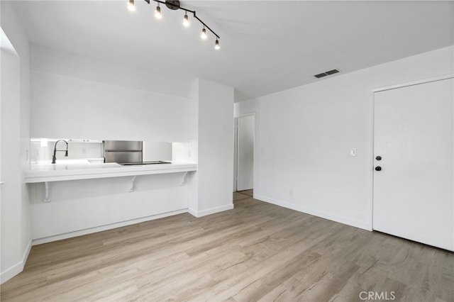
[[233,197],[203,218],[34,246],[1,301],[454,301],[451,252]]

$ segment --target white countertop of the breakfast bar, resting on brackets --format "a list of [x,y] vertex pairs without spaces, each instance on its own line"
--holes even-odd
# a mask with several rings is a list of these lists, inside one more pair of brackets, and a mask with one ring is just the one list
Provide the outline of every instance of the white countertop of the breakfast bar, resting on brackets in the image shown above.
[[147,174],[165,174],[196,171],[194,162],[171,162],[170,164],[140,164],[122,166],[114,162],[90,163],[88,160],[57,160],[56,164],[32,164],[26,171],[26,183],[127,177]]

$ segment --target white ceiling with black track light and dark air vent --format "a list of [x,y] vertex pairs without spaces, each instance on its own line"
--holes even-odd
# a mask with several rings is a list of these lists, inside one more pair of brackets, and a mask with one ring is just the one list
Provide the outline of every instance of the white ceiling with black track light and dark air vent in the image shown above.
[[[184,1],[221,36],[155,2],[17,1],[31,43],[236,88],[236,101],[454,44],[454,1]],[[336,77],[333,75],[331,77]]]

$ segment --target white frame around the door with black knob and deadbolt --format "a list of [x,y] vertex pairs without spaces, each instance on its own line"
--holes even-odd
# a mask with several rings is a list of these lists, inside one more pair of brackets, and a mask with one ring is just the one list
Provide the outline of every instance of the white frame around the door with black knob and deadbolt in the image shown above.
[[[368,212],[370,213],[370,223],[368,225],[368,230],[374,230],[374,142],[375,142],[375,93],[380,91],[387,91],[392,89],[398,89],[407,86],[414,86],[419,84],[426,84],[430,82],[437,82],[443,79],[454,78],[454,74],[444,74],[438,77],[430,77],[427,79],[419,79],[411,82],[404,82],[401,84],[394,84],[390,86],[383,86],[376,89],[370,90],[370,160],[369,160],[369,175],[370,175],[370,198],[368,202]],[[454,114],[454,113],[453,113]],[[454,185],[454,184],[453,184]]]

